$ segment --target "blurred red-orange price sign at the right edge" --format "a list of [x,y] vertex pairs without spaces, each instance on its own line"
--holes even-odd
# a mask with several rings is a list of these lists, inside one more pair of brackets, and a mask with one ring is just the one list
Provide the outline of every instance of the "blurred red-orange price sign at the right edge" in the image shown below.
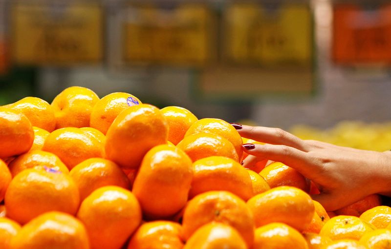
[[333,59],[340,64],[391,63],[391,5],[334,6]]

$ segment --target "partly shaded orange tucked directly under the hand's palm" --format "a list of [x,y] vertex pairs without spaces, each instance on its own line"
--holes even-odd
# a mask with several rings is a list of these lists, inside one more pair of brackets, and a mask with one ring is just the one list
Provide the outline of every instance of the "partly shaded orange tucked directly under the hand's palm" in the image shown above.
[[261,170],[260,175],[273,187],[291,186],[309,191],[309,182],[296,169],[279,162],[274,162]]

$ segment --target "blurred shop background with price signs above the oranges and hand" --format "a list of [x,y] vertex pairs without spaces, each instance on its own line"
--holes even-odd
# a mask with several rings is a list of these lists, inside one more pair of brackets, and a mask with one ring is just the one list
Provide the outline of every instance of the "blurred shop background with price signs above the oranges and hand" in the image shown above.
[[391,148],[389,0],[0,0],[0,105],[122,91]]

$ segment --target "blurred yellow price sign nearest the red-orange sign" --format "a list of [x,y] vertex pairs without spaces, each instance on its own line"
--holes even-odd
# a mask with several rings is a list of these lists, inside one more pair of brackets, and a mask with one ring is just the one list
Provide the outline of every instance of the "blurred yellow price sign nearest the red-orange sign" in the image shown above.
[[312,17],[306,4],[273,8],[234,3],[225,12],[225,55],[232,62],[263,65],[312,62]]

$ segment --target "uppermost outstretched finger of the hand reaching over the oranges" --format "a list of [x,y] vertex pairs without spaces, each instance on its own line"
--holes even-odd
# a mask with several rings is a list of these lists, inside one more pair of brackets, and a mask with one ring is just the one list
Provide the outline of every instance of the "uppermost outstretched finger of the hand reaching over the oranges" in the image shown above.
[[265,144],[286,145],[308,152],[303,140],[280,128],[241,125],[241,129],[238,129],[238,132],[244,138]]

